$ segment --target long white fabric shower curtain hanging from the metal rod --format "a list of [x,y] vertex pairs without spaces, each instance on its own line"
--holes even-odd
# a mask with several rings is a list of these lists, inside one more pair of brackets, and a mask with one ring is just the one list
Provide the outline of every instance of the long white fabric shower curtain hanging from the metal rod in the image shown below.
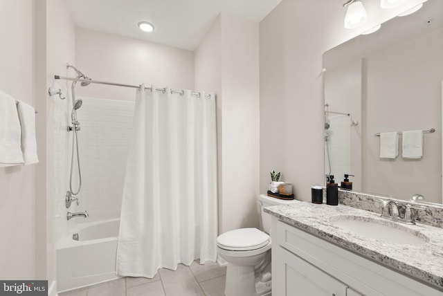
[[215,95],[137,91],[117,274],[154,277],[217,259]]

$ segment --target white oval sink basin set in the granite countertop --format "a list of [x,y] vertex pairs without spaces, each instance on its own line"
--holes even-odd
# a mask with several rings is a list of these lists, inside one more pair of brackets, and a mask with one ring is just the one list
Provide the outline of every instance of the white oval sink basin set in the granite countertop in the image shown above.
[[421,245],[429,241],[424,234],[385,219],[340,215],[332,216],[330,222],[332,225],[358,234],[360,237],[377,239],[377,241],[386,243]]

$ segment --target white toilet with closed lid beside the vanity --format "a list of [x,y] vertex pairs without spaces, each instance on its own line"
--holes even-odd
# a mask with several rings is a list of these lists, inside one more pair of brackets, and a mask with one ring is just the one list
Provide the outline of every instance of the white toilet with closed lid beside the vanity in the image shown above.
[[271,215],[263,208],[288,203],[293,201],[261,194],[260,214],[264,232],[257,228],[240,228],[217,237],[218,255],[228,262],[226,296],[271,295]]

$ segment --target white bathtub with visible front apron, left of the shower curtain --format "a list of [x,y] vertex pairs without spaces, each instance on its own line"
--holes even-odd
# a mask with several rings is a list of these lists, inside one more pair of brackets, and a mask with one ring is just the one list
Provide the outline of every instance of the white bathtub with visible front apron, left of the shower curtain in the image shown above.
[[[57,246],[57,290],[117,279],[119,219],[82,223]],[[78,241],[73,239],[78,234]]]

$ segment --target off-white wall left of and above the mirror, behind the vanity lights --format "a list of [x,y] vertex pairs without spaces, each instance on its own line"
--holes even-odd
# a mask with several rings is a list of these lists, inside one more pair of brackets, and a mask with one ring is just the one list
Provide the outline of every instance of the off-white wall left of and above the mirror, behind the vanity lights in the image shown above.
[[311,185],[323,184],[323,53],[421,2],[382,10],[366,1],[368,24],[352,30],[343,27],[345,8],[336,1],[318,9],[318,1],[283,0],[260,22],[261,192],[272,169],[302,200],[311,198]]

